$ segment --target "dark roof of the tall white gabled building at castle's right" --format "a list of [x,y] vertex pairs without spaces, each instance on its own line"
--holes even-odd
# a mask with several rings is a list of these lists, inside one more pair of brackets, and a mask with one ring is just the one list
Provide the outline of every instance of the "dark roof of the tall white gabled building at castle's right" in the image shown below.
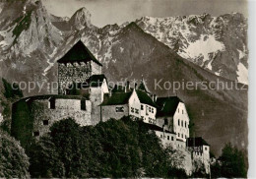
[[177,96],[159,97],[156,102],[160,107],[157,115],[173,116],[179,102],[182,102],[182,100]]

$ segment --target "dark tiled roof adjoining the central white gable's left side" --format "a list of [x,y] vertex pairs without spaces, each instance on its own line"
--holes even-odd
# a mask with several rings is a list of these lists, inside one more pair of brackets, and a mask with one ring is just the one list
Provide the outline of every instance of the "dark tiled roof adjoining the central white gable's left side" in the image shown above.
[[101,105],[120,105],[120,104],[128,104],[129,98],[132,94],[130,92],[116,92],[112,93],[109,96],[109,93],[104,94],[104,100]]

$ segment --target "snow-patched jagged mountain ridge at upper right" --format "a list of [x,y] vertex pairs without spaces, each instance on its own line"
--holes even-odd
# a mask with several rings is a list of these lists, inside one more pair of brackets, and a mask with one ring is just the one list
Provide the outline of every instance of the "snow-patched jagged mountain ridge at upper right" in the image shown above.
[[144,17],[136,24],[183,58],[218,76],[248,83],[247,23],[241,14]]

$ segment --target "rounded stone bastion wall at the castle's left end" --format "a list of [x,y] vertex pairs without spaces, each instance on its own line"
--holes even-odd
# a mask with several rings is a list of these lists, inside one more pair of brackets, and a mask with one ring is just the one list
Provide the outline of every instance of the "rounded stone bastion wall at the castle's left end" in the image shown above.
[[[56,98],[55,98],[56,97]],[[69,98],[68,98],[69,97]],[[92,102],[79,96],[32,96],[14,103],[12,135],[27,146],[33,137],[49,132],[50,126],[66,118],[73,118],[81,126],[94,125]]]

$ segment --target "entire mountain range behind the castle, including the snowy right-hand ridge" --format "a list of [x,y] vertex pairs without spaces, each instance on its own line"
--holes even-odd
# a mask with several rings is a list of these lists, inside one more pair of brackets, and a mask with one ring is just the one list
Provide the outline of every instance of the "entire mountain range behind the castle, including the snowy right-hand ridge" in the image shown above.
[[[0,7],[0,76],[9,82],[56,82],[56,61],[79,39],[102,63],[108,81],[144,75],[149,89],[159,95],[174,94],[156,89],[159,81],[163,87],[164,82],[246,79],[247,26],[239,14],[145,17],[98,29],[85,8],[69,19],[49,15],[40,1],[7,1]],[[46,85],[41,92],[49,92]],[[227,142],[247,148],[247,90],[175,92],[187,105],[196,135],[204,136],[216,153]]]

